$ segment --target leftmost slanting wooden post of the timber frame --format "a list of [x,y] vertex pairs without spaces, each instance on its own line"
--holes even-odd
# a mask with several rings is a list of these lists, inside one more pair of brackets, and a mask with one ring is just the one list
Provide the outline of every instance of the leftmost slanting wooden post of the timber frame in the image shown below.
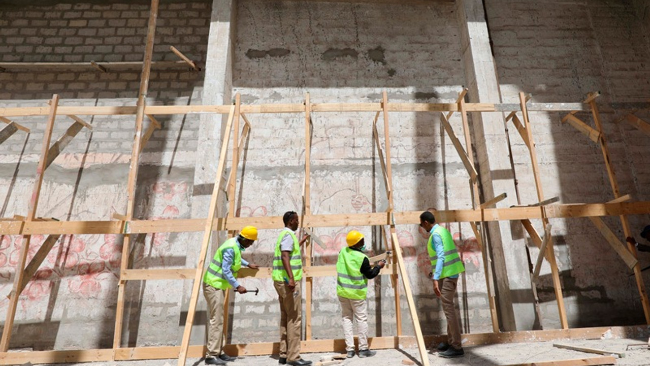
[[[38,208],[38,197],[40,196],[41,186],[43,184],[43,175],[45,173],[47,154],[49,152],[49,143],[52,139],[52,130],[54,128],[54,120],[57,117],[57,108],[59,107],[59,94],[54,94],[49,104],[49,116],[47,117],[47,126],[43,133],[43,145],[41,147],[41,154],[38,160],[38,167],[36,167],[36,180],[34,181],[34,189],[32,196],[29,199],[29,208],[27,210],[27,217],[25,221],[34,221],[36,218],[36,208]],[[25,262],[27,262],[27,253],[29,253],[29,242],[31,235],[23,235],[23,246],[20,248],[18,255],[18,263],[16,264],[16,274],[14,275],[14,286],[9,294],[9,304],[6,310],[5,327],[0,341],[0,352],[7,352],[9,349],[9,342],[11,339],[11,331],[14,327],[14,318],[16,317],[16,307],[18,307],[18,298],[20,296],[20,285],[23,282],[25,275]]]

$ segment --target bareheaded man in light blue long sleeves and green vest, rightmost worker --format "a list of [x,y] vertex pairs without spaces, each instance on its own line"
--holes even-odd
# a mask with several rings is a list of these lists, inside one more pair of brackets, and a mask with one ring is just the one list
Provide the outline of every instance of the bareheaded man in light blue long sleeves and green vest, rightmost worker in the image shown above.
[[447,318],[447,342],[440,343],[439,356],[444,358],[463,357],[465,351],[460,343],[460,312],[456,309],[456,287],[458,274],[465,272],[454,239],[447,229],[435,223],[435,216],[429,211],[420,215],[420,226],[430,233],[426,249],[429,252],[434,280],[435,296],[443,303]]

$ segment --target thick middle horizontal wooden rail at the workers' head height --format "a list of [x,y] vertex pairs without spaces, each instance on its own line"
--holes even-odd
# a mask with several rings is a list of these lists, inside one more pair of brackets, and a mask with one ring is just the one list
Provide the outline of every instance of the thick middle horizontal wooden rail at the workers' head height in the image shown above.
[[[545,206],[548,218],[588,218],[595,216],[642,215],[650,213],[650,201],[621,203],[552,204]],[[419,224],[421,211],[395,212],[400,224]],[[541,219],[539,207],[482,208],[478,210],[435,211],[441,222],[509,221]],[[391,225],[385,212],[369,214],[327,214],[304,216],[305,227],[347,227]],[[240,230],[246,225],[257,229],[282,229],[281,216],[216,218],[214,230]],[[160,219],[134,221],[0,221],[0,234],[142,234],[148,232],[203,231],[205,219]]]

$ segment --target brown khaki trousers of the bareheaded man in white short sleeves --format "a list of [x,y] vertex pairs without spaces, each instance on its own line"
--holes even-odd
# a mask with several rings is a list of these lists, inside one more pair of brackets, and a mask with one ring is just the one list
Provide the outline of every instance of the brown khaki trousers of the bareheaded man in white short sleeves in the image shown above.
[[[302,296],[293,296],[289,286],[281,281],[273,281],[280,303],[280,353],[287,361],[300,359],[300,337],[302,337]],[[296,289],[300,281],[296,282]]]

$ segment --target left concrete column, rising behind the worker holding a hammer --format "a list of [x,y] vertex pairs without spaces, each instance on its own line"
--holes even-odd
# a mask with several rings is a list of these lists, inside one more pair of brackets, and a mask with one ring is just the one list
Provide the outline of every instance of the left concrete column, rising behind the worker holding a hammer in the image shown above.
[[[237,13],[237,0],[214,0],[208,48],[205,57],[205,79],[203,81],[203,94],[201,103],[204,105],[230,104],[232,102],[233,80],[233,49]],[[222,135],[226,126],[227,115],[201,115],[199,126],[198,147],[196,148],[196,165],[194,167],[194,188],[192,191],[192,218],[206,218],[210,206],[210,199],[214,188],[214,175],[219,162],[219,152]],[[226,195],[221,196],[221,208],[217,216],[226,214]],[[203,232],[185,233],[188,243],[187,266],[196,266]],[[213,235],[213,250],[208,251],[208,257],[224,238]],[[194,248],[196,250],[191,250]],[[192,283],[185,281],[185,296],[183,300],[190,299]],[[187,303],[183,309],[187,309]],[[198,312],[205,311],[203,295],[199,296]],[[194,320],[194,329],[190,343],[201,343],[205,339],[205,317],[197,315]]]

